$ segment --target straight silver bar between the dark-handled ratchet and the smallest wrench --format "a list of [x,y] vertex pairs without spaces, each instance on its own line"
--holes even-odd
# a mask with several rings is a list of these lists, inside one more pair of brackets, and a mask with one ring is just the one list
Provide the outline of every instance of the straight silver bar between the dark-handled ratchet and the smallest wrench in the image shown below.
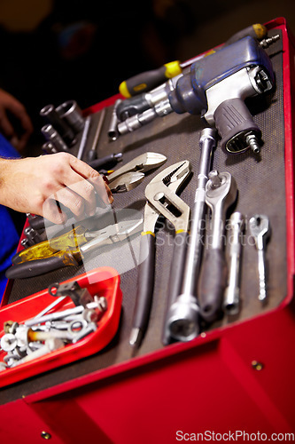
[[242,239],[245,229],[245,217],[236,211],[229,218],[229,274],[228,285],[224,292],[224,310],[227,314],[234,315],[240,306],[240,271],[242,257]]

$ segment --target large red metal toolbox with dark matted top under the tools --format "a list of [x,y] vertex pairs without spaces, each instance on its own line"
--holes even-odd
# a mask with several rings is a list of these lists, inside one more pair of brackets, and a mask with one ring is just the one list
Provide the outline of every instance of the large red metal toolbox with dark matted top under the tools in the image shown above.
[[[230,161],[217,148],[214,162],[218,168],[226,167],[236,178],[241,178],[239,204],[249,210],[248,215],[265,207],[272,215],[272,238],[268,246],[269,304],[262,308],[257,302],[257,252],[248,245],[243,263],[243,314],[232,321],[217,322],[188,343],[164,347],[160,331],[165,303],[161,303],[160,296],[166,294],[169,256],[166,247],[163,251],[159,249],[156,263],[161,266],[157,268],[154,292],[157,297],[154,296],[148,334],[139,353],[133,355],[128,346],[134,307],[130,282],[134,286],[136,282],[136,273],[130,271],[121,275],[123,305],[119,330],[104,351],[0,390],[1,440],[35,443],[43,438],[52,443],[89,440],[147,444],[295,439],[294,114],[291,109],[295,42],[284,19],[273,20],[267,27],[270,32],[280,33],[281,46],[272,54],[276,94],[255,114],[255,119],[264,125],[264,157],[259,163],[246,155]],[[112,112],[112,101],[90,111],[98,113],[104,106]],[[171,150],[175,146],[179,156],[175,154],[175,158],[181,160],[189,153],[195,155],[198,147],[198,137],[191,130],[193,125],[198,127],[194,116],[167,115],[155,123],[152,134],[151,129],[143,128],[128,139],[125,136],[118,139],[112,149],[125,149],[128,159],[130,151],[148,150],[149,144],[160,150],[168,139]],[[179,143],[183,149],[179,149]],[[109,145],[107,149],[110,150]],[[193,167],[197,170],[197,163]],[[182,194],[183,200],[191,202],[194,189],[188,186]],[[143,193],[143,190],[137,191]],[[120,204],[127,205],[128,200],[121,199]],[[55,281],[61,281],[62,276],[63,280],[72,279],[73,270],[58,271],[54,274]],[[50,279],[52,275],[35,278],[35,292],[46,288]],[[15,281],[5,302],[15,303],[13,295],[20,288],[26,292],[26,285],[21,280]]]

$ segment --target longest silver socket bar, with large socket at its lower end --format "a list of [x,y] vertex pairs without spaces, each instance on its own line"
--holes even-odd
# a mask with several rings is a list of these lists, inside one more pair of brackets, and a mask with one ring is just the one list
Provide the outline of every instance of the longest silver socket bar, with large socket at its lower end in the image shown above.
[[191,214],[190,242],[185,257],[182,287],[172,299],[165,321],[163,343],[190,341],[198,336],[197,283],[205,228],[205,191],[211,165],[216,131],[206,128],[199,140],[201,155],[198,170],[197,190]]

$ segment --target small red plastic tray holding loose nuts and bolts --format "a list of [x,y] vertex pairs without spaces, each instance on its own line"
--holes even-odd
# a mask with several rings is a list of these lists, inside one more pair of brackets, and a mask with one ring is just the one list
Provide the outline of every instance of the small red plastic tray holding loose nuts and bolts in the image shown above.
[[[122,304],[118,272],[111,267],[95,268],[87,274],[80,274],[66,282],[70,281],[77,281],[82,288],[87,288],[91,296],[99,295],[106,298],[107,309],[97,323],[97,330],[76,344],[66,345],[64,348],[48,353],[34,361],[24,362],[17,367],[3,370],[0,373],[0,387],[97,353],[109,344],[114,337],[119,326]],[[54,300],[55,297],[50,296],[47,289],[43,289],[32,296],[24,297],[16,303],[4,306],[0,309],[0,337],[4,335],[4,321],[17,321],[19,323],[27,321],[40,313]],[[72,307],[74,307],[72,299],[65,297],[49,313]],[[5,355],[6,352],[0,352],[0,361],[3,361]]]

